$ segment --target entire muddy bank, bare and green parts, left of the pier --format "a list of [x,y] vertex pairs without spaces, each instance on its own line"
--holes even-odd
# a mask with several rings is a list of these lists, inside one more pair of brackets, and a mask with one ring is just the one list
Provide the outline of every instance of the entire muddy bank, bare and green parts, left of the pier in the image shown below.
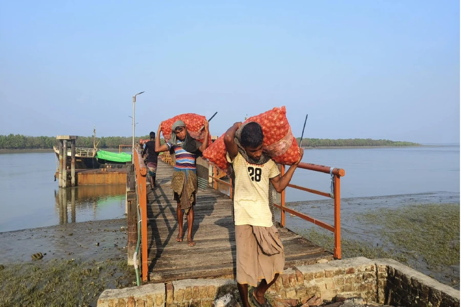
[[0,306],[96,306],[103,290],[135,285],[126,227],[123,218],[0,233]]

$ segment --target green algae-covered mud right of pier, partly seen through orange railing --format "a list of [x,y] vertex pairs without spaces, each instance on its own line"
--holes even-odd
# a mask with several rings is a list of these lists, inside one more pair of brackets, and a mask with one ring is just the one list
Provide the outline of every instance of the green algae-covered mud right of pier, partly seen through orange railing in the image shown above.
[[[382,243],[343,236],[342,258],[392,258],[438,281],[459,285],[459,203],[368,210],[357,214],[357,222],[373,226],[370,235]],[[296,232],[332,250],[330,232],[312,228]]]

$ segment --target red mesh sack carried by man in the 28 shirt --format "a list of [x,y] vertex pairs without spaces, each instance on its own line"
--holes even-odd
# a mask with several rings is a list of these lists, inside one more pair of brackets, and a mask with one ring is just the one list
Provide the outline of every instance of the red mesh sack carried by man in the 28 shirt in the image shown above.
[[[291,133],[290,125],[286,119],[285,107],[274,108],[257,116],[252,116],[245,122],[256,121],[264,133],[264,153],[275,162],[291,165],[299,159],[298,143]],[[226,169],[226,148],[224,135],[221,135],[204,152],[203,156],[217,167]]]

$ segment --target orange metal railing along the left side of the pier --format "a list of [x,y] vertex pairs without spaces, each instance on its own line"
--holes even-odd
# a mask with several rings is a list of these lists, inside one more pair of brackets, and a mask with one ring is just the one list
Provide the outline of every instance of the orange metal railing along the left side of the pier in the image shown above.
[[[137,150],[133,150],[133,161],[136,174],[136,194],[141,215],[141,265],[142,265],[142,281],[148,279],[148,253],[147,253],[147,195],[145,175],[147,168],[141,158],[141,154]],[[138,221],[139,223],[139,221]]]

